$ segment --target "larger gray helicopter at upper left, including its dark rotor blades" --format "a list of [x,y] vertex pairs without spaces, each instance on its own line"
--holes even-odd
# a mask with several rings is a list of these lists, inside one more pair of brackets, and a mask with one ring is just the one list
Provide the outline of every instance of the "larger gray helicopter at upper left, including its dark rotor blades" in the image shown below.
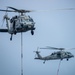
[[[11,10],[8,10],[11,9]],[[25,13],[29,13],[29,12],[33,12],[32,10],[23,10],[23,9],[16,9],[13,7],[7,7],[6,10],[2,10],[0,9],[0,11],[4,11],[6,12],[6,14],[3,17],[3,22],[4,20],[6,20],[6,27],[7,29],[0,29],[0,32],[8,32],[9,34],[11,34],[10,40],[12,40],[12,35],[16,33],[20,33],[20,32],[27,32],[27,31],[31,31],[31,34],[34,34],[34,30],[35,30],[35,22],[33,21],[33,19],[26,15]],[[8,13],[7,12],[18,12],[19,15],[13,16],[12,18],[8,17]]]

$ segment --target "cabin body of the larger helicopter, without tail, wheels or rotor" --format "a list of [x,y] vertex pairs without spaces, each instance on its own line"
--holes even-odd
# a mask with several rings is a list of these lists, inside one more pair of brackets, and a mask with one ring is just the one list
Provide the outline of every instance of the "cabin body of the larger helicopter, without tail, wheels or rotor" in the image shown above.
[[15,16],[10,19],[9,23],[9,30],[10,34],[15,34],[19,32],[26,32],[26,31],[33,31],[35,30],[34,25],[35,22],[30,16]]

